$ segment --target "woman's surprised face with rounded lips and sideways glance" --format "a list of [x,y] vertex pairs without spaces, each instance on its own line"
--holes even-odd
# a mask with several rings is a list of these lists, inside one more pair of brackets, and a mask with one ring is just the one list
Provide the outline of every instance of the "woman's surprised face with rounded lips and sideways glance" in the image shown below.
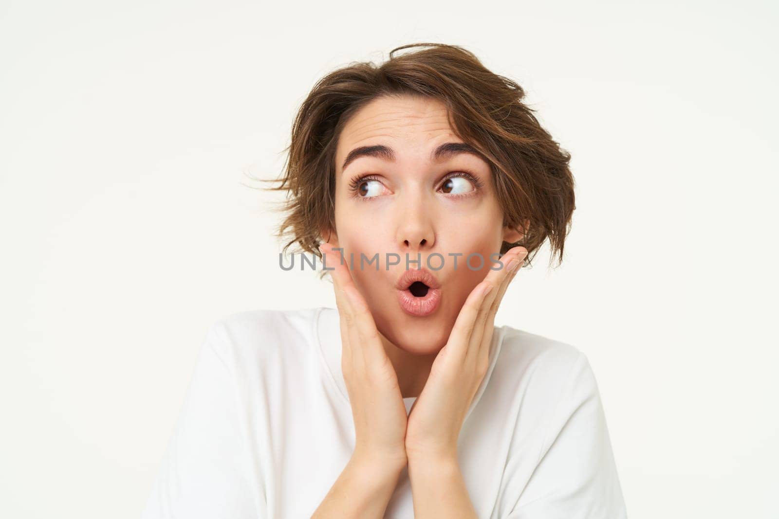
[[[499,253],[503,240],[521,238],[502,226],[489,164],[464,151],[435,156],[447,143],[463,142],[447,121],[445,105],[413,96],[373,100],[347,121],[337,142],[336,229],[330,243],[344,247],[346,261],[354,254],[352,278],[376,328],[400,349],[418,355],[446,345],[468,294],[489,272],[490,254]],[[386,149],[352,154],[344,167],[347,156],[364,146]],[[367,263],[377,253],[378,270],[376,261]],[[440,256],[428,265],[434,253]],[[478,255],[471,258],[471,268],[466,264],[474,253],[485,260],[481,268]],[[363,268],[361,254],[366,258]],[[397,261],[392,254],[400,256],[389,270],[387,254],[390,261]],[[410,262],[409,269],[426,268],[440,284],[439,303],[424,316],[410,314],[400,303],[396,284],[407,270],[406,254],[410,261],[418,254],[421,258],[421,264]]]

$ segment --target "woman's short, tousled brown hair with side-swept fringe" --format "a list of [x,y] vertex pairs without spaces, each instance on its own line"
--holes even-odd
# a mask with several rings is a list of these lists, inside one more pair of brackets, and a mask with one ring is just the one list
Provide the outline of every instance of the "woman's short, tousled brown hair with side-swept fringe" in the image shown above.
[[[407,47],[426,47],[394,56]],[[496,75],[470,51],[446,44],[409,44],[376,66],[352,62],[316,82],[294,123],[284,176],[272,191],[287,191],[288,212],[277,237],[321,258],[320,230],[335,229],[335,154],[341,129],[361,107],[380,96],[427,96],[446,104],[453,131],[488,157],[503,225],[522,227],[523,238],[503,242],[501,254],[521,245],[527,264],[549,240],[562,251],[574,205],[570,154],[541,128],[523,102],[523,89]],[[527,222],[527,227],[525,227]]]

